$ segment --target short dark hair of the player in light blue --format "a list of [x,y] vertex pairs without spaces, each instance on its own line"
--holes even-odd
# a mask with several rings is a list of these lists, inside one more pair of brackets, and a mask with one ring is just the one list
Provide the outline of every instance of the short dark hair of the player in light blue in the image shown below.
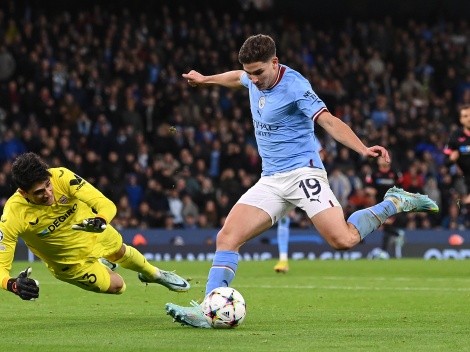
[[243,43],[238,52],[238,61],[243,64],[268,62],[276,56],[276,43],[265,34],[252,35]]

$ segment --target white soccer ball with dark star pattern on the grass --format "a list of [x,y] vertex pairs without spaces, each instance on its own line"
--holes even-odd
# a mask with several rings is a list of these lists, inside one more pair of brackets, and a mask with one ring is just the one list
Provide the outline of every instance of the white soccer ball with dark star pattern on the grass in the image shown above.
[[215,329],[230,329],[240,325],[246,316],[243,296],[232,287],[217,287],[202,302],[207,322]]

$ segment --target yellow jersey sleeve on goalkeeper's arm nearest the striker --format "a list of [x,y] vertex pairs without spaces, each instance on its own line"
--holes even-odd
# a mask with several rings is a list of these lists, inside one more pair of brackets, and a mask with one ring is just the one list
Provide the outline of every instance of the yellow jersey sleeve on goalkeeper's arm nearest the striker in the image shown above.
[[116,205],[83,177],[66,168],[60,168],[59,172],[62,176],[58,178],[58,185],[65,193],[86,203],[108,223],[116,216]]

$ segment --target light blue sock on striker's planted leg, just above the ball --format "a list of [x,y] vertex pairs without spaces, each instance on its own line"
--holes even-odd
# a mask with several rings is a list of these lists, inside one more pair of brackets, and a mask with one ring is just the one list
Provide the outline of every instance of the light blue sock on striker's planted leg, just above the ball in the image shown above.
[[228,287],[235,277],[238,267],[238,253],[233,251],[215,252],[212,267],[206,284],[206,296],[214,288]]

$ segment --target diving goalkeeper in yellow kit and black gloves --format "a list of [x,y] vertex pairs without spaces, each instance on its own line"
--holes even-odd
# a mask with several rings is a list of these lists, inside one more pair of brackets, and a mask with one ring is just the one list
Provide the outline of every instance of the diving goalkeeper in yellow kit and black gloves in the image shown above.
[[49,168],[36,154],[25,153],[12,165],[17,191],[0,219],[0,283],[24,300],[38,298],[31,268],[10,277],[16,243],[21,237],[57,279],[84,290],[121,294],[122,277],[102,264],[101,257],[138,272],[142,282],[172,291],[187,291],[189,283],[173,272],[151,265],[135,248],[123,244],[109,222],[116,206],[80,176],[64,168]]

